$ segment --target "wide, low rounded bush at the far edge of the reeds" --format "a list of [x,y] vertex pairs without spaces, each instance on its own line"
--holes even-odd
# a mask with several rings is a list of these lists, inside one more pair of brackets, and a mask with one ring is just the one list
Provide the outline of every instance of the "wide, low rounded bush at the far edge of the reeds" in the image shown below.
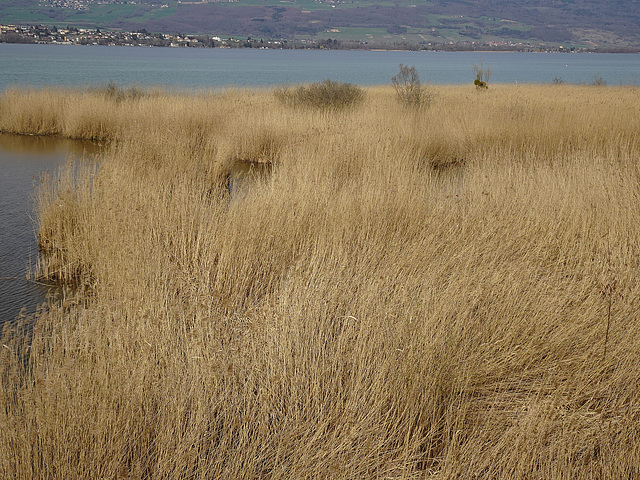
[[277,88],[275,95],[284,104],[294,107],[342,109],[361,103],[365,92],[357,85],[327,79],[310,85],[285,85]]

